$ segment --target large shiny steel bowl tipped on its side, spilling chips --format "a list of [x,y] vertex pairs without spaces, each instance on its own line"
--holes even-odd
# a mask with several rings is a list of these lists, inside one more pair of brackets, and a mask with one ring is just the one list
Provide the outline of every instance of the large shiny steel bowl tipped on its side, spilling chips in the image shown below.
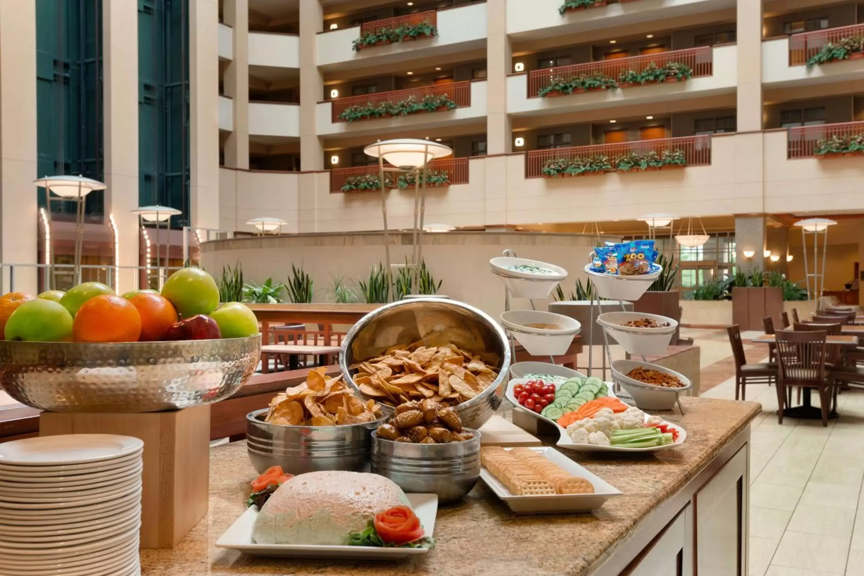
[[[342,340],[339,364],[346,382],[365,397],[354,383],[348,366],[384,353],[392,345],[422,341],[425,345],[454,344],[468,351],[498,355],[498,377],[468,402],[455,406],[462,425],[479,428],[495,414],[504,400],[510,346],[504,329],[483,311],[454,300],[417,298],[382,306],[366,314]],[[382,404],[384,414],[393,408]]]

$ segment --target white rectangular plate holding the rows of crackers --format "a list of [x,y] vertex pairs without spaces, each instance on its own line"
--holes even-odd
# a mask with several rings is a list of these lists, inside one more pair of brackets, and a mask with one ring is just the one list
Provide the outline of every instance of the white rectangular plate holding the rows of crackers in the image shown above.
[[[512,450],[512,448],[505,448]],[[581,465],[567,458],[562,453],[549,446],[531,447],[543,458],[559,465],[563,470],[573,476],[581,476],[594,485],[594,494],[539,494],[532,496],[514,496],[507,490],[498,478],[492,476],[492,472],[486,470],[486,466],[480,466],[480,478],[495,492],[495,496],[501,498],[517,514],[537,514],[556,512],[590,512],[597,510],[609,498],[621,496],[621,491],[609,484],[603,478],[588,472]]]

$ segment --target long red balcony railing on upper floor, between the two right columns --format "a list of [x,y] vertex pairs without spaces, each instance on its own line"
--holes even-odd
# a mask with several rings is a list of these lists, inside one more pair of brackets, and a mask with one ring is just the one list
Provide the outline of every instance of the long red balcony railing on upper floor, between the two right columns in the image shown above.
[[713,73],[714,51],[710,46],[701,46],[686,50],[672,50],[658,54],[619,58],[617,60],[600,60],[597,62],[572,64],[570,66],[545,68],[543,70],[532,70],[528,73],[528,98],[537,97],[537,92],[541,88],[550,85],[552,78],[555,76],[568,79],[580,76],[581,74],[589,75],[599,72],[609,78],[618,79],[620,73],[626,70],[641,72],[651,62],[654,62],[659,67],[666,66],[670,62],[680,62],[693,69],[694,77],[710,76]]

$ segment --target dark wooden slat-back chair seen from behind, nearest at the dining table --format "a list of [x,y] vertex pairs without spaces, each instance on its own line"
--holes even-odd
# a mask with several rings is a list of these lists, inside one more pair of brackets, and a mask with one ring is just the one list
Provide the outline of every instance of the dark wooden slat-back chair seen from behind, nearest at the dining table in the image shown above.
[[827,332],[793,332],[782,330],[777,333],[778,356],[778,422],[783,424],[783,408],[786,389],[812,388],[819,393],[819,405],[822,408],[822,425],[828,427],[828,415],[831,409],[832,383],[829,381],[828,345],[825,343]]

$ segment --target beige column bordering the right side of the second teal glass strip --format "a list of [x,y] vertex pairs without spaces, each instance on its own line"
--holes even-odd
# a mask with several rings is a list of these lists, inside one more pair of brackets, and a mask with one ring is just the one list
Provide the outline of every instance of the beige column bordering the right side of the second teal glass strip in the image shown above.
[[219,228],[219,3],[189,3],[190,223]]

